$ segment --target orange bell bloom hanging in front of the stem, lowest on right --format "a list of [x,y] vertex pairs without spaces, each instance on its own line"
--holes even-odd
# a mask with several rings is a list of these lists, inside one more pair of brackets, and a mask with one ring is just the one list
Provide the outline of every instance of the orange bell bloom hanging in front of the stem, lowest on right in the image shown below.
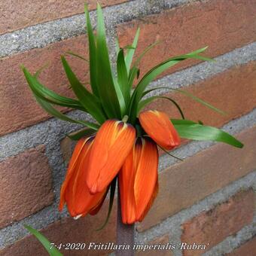
[[157,145],[138,138],[118,174],[123,224],[142,221],[157,197]]

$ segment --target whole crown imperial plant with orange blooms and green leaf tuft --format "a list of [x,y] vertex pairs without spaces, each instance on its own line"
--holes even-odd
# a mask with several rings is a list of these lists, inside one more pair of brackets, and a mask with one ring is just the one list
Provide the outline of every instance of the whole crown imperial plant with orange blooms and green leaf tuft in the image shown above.
[[[157,197],[157,145],[167,152],[180,145],[180,138],[224,142],[238,148],[242,148],[242,143],[215,127],[184,119],[180,106],[173,99],[164,96],[147,97],[151,91],[160,89],[158,87],[146,90],[148,84],[166,69],[186,59],[211,61],[212,59],[200,55],[206,47],[166,59],[141,78],[139,62],[155,44],[133,60],[139,39],[138,29],[132,45],[123,48],[117,46],[117,75],[114,75],[108,56],[102,9],[98,5],[96,34],[93,33],[87,8],[85,14],[90,50],[91,90],[78,80],[65,56],[61,57],[62,65],[77,99],[60,96],[44,87],[38,81],[39,72],[32,75],[25,67],[23,72],[42,108],[61,120],[84,126],[84,130],[69,135],[78,142],[62,184],[59,210],[66,204],[74,218],[88,213],[95,215],[110,190],[109,216],[118,181],[123,223],[133,224],[145,218]],[[136,87],[133,90],[134,84]],[[190,93],[176,91],[221,112]],[[143,111],[146,105],[158,98],[172,102],[178,108],[181,119],[170,119],[161,111]],[[56,110],[54,105],[84,111],[95,122],[74,120]]]

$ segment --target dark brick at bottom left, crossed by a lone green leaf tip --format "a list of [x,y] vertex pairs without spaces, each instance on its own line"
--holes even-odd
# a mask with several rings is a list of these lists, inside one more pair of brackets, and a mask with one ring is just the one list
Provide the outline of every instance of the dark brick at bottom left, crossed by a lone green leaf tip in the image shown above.
[[[108,225],[100,231],[96,231],[102,223],[105,221],[108,211],[108,203],[105,202],[103,209],[95,216],[86,216],[85,218],[79,218],[74,220],[73,218],[64,218],[61,221],[56,221],[50,224],[44,230],[44,236],[54,242],[56,245],[62,243],[83,243],[85,242],[87,248],[90,242],[106,243],[115,242],[115,227],[116,227],[116,205],[113,207],[113,212]],[[77,256],[77,255],[105,255],[110,251],[107,250],[61,250],[65,256]],[[47,256],[47,252],[33,236],[26,236],[13,245],[0,251],[1,256],[23,256],[23,255],[41,255]]]

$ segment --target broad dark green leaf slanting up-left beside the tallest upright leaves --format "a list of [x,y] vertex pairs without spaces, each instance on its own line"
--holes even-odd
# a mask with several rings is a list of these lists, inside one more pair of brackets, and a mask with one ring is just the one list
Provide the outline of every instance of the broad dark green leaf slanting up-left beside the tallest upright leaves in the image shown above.
[[78,80],[75,74],[72,72],[72,69],[69,66],[69,63],[66,61],[65,57],[62,56],[62,65],[65,69],[67,78],[69,79],[69,83],[72,86],[72,90],[75,95],[78,97],[81,105],[87,109],[88,113],[90,113],[99,123],[104,123],[105,115],[102,110],[102,105],[99,102],[99,99],[92,93],[90,93]]

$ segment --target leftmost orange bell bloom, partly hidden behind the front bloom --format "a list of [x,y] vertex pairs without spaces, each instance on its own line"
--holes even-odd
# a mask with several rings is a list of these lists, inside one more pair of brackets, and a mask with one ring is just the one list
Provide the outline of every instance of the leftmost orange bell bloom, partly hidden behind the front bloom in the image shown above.
[[75,218],[96,214],[105,200],[106,190],[91,195],[86,184],[87,165],[94,137],[80,139],[75,146],[65,181],[60,192],[59,210],[67,204],[70,215]]

